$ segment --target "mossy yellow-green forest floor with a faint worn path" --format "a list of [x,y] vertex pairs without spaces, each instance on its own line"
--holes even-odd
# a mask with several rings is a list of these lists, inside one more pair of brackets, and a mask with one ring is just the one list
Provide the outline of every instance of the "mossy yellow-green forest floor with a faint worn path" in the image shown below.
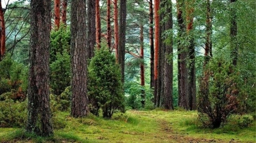
[[242,116],[238,115],[219,129],[199,127],[197,112],[182,110],[128,110],[111,119],[93,115],[72,118],[68,112],[58,112],[55,118],[55,136],[51,138],[0,128],[0,142],[256,142],[255,121],[241,129],[238,121]]

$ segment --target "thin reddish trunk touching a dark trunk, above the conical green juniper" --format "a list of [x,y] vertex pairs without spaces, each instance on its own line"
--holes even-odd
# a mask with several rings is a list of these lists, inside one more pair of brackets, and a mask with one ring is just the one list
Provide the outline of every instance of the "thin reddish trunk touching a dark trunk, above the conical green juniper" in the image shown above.
[[96,4],[96,44],[98,48],[100,48],[100,42],[101,42],[100,0],[96,0],[95,4]]

